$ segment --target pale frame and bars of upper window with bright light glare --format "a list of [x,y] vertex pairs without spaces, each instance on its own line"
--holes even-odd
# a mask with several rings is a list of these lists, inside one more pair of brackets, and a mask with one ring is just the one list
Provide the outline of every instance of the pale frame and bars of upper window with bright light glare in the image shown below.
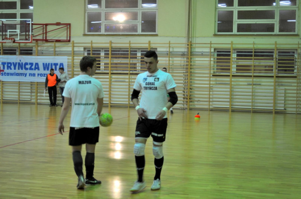
[[[87,35],[90,34],[97,34],[97,35],[157,35],[158,34],[158,0],[157,6],[154,8],[143,8],[142,0],[138,0],[138,8],[122,8],[122,9],[115,9],[115,8],[105,8],[105,0],[101,0],[101,8],[88,8],[88,0],[85,0],[85,29],[84,32]],[[100,32],[88,32],[88,13],[93,12],[101,12],[101,31]],[[138,20],[134,21],[112,21],[112,20],[105,20],[106,12],[114,13],[114,12],[137,12],[138,13]],[[155,12],[156,13],[156,31],[155,32],[142,32],[142,12]],[[104,28],[106,25],[114,25],[114,24],[136,24],[137,25],[137,32],[105,32]]]

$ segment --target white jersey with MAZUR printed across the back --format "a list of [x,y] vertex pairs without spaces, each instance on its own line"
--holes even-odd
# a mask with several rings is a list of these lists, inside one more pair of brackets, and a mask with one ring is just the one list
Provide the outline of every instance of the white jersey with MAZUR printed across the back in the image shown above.
[[72,99],[71,127],[98,127],[97,98],[103,98],[99,80],[88,75],[79,75],[67,81],[64,97]]

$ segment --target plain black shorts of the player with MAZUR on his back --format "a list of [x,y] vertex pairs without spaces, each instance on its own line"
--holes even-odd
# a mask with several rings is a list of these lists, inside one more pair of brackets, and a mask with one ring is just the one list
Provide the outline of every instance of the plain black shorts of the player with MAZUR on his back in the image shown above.
[[78,146],[82,144],[96,144],[100,136],[100,127],[94,128],[80,128],[70,126],[69,131],[69,145]]

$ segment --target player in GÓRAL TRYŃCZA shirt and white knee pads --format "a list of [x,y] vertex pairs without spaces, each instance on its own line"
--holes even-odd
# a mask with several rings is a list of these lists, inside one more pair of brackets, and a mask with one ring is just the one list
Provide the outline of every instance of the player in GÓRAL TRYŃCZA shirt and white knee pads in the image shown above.
[[[155,176],[151,190],[161,188],[161,170],[164,162],[163,142],[166,139],[167,112],[178,101],[175,92],[176,84],[170,74],[164,73],[157,67],[158,55],[155,51],[148,51],[144,55],[147,72],[139,74],[134,84],[132,102],[137,110],[138,120],[135,130],[134,154],[138,179],[131,188],[132,192],[141,191],[146,187],[143,181],[145,167],[145,144],[151,136],[153,139],[152,152],[155,156]],[[139,93],[142,92],[140,104]],[[167,101],[169,94],[169,101]]]

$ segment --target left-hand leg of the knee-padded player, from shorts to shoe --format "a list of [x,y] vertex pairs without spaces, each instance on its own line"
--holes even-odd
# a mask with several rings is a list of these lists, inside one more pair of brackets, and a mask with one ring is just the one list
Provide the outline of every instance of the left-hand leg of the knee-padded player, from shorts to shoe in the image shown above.
[[147,138],[151,135],[151,131],[149,131],[148,127],[148,121],[148,119],[143,119],[142,121],[138,119],[136,125],[134,155],[138,179],[134,186],[130,189],[132,192],[141,191],[146,187],[146,183],[143,181],[143,171],[145,167],[145,144]]

